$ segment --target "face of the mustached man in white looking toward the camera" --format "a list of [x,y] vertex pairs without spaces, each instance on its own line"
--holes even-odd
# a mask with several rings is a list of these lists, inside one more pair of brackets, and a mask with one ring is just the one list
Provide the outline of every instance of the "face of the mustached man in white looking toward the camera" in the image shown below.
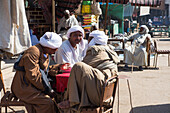
[[80,43],[82,38],[83,38],[83,34],[80,31],[76,31],[70,34],[69,41],[72,45],[76,45]]

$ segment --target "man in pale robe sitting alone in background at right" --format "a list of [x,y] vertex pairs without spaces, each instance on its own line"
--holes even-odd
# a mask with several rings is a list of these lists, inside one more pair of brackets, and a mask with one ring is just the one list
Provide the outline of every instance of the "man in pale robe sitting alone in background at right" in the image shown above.
[[125,69],[128,68],[127,64],[139,66],[139,70],[142,71],[142,66],[147,65],[147,52],[146,45],[149,38],[151,44],[153,44],[150,34],[148,34],[149,29],[146,25],[141,25],[139,33],[131,36],[129,39],[133,39],[132,45],[125,49]]

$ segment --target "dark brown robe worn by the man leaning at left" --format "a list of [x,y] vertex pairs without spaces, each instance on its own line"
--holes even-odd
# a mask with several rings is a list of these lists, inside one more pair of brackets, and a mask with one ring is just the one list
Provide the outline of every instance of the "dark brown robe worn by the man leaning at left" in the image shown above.
[[25,72],[15,73],[11,90],[25,102],[28,113],[56,113],[54,102],[43,93],[45,89],[39,71],[40,67],[47,69],[48,57],[45,58],[40,44],[32,46],[24,52],[19,63],[19,66],[24,66]]

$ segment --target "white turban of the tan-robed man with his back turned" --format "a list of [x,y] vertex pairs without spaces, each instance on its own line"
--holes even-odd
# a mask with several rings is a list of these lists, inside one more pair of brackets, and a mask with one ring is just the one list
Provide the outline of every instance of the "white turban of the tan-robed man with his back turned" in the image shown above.
[[94,37],[90,41],[89,47],[91,47],[91,46],[93,46],[95,44],[107,45],[108,37],[107,37],[107,35],[105,35],[105,33],[103,31],[99,31],[99,30],[92,31],[89,34],[89,36]]

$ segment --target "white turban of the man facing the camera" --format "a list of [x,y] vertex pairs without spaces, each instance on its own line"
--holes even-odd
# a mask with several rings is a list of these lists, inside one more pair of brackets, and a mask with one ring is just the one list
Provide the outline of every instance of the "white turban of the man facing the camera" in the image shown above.
[[73,27],[71,27],[68,31],[67,31],[67,37],[70,38],[70,34],[76,31],[80,31],[83,34],[84,37],[84,29],[79,26],[79,25],[75,25]]

